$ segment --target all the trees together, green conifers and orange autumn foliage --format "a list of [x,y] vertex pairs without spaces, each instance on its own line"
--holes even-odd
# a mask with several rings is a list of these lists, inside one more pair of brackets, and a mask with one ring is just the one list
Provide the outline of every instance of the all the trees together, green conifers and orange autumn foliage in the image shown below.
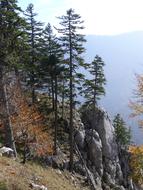
[[[75,144],[77,112],[82,115],[90,110],[92,122],[98,123],[98,103],[105,95],[105,63],[96,52],[91,63],[84,60],[84,21],[73,9],[57,18],[59,28],[50,23],[45,26],[36,16],[33,4],[23,11],[16,0],[0,0],[0,143],[11,148],[22,163],[57,155],[64,146],[68,169],[73,172],[75,149],[79,151]],[[130,103],[133,117],[143,113],[143,77],[137,80],[137,101]],[[142,169],[142,149],[129,146],[131,132],[120,114],[113,127],[119,156],[122,149],[130,150],[131,166]],[[94,135],[92,127],[91,142]],[[133,179],[142,183],[141,170],[135,172]]]

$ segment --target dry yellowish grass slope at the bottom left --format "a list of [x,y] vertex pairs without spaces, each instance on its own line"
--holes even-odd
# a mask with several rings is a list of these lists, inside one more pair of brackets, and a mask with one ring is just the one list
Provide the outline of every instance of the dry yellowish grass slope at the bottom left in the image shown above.
[[10,158],[0,157],[0,190],[30,190],[30,183],[44,185],[48,190],[85,190],[71,174],[36,164],[22,165]]

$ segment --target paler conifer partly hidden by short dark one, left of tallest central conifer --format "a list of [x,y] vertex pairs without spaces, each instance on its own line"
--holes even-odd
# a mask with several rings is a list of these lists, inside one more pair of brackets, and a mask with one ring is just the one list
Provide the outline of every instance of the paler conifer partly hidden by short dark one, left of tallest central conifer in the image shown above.
[[54,82],[55,82],[55,65],[54,62],[51,62],[50,57],[53,55],[58,59],[56,67],[62,67],[63,65],[63,51],[62,47],[58,42],[56,35],[53,34],[52,27],[50,23],[47,24],[43,31],[43,40],[42,40],[42,60],[41,60],[41,78],[42,81],[47,83],[48,88],[52,92],[52,109],[54,111],[54,102],[55,102],[55,91],[54,91]]

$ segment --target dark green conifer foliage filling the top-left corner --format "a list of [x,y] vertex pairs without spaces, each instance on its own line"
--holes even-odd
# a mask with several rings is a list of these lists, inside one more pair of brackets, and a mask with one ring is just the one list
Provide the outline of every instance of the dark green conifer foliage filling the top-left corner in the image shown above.
[[16,0],[0,1],[0,63],[14,68],[19,64],[25,21]]

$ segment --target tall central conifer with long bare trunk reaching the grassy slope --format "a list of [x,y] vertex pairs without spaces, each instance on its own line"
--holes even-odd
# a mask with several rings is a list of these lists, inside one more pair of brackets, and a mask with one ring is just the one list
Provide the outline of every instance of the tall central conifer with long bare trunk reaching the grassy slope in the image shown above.
[[83,42],[84,36],[78,31],[83,29],[80,15],[76,14],[73,9],[69,9],[65,16],[58,17],[60,19],[61,29],[58,32],[62,34],[62,41],[67,57],[69,68],[69,87],[70,87],[70,170],[73,170],[73,108],[74,108],[74,77],[79,65],[83,63],[81,54],[85,51]]

